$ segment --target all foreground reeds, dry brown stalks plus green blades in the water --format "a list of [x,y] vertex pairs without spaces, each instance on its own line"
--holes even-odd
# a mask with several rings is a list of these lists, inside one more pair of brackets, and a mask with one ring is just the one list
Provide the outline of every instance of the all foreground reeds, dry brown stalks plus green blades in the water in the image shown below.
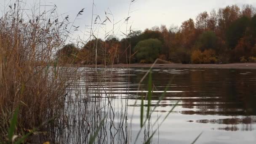
[[[128,17],[123,19],[126,32],[122,33],[125,37],[129,31],[131,32],[131,27],[128,29],[128,20],[131,17],[131,4],[134,2],[135,0],[131,0]],[[94,5],[93,1],[93,7]],[[9,5],[0,19],[0,141],[10,141],[14,133],[21,138],[21,135],[29,133],[34,134],[32,142],[127,144],[131,141],[136,143],[141,131],[144,131],[144,143],[150,143],[157,131],[151,131],[150,127],[156,125],[160,118],[152,122],[151,115],[165,96],[164,92],[155,107],[151,107],[151,69],[158,59],[139,82],[138,91],[141,82],[149,74],[148,93],[141,98],[140,130],[133,141],[132,129],[131,126],[128,128],[127,118],[130,69],[126,68],[128,91],[125,98],[118,103],[118,109],[115,109],[116,100],[112,93],[112,73],[115,69],[97,68],[99,55],[103,56],[105,66],[107,63],[113,65],[116,59],[118,48],[114,49],[115,53],[112,56],[107,57],[106,43],[99,47],[97,38],[100,28],[105,30],[105,39],[115,37],[115,24],[118,22],[114,23],[112,12],[106,11],[105,21],[101,21],[98,15],[94,17],[92,11],[88,40],[78,40],[76,43],[85,44],[95,39],[89,48],[90,53],[95,54],[83,58],[88,64],[95,64],[95,67],[78,68],[66,65],[80,58],[76,53],[65,62],[56,59],[55,54],[59,48],[69,43],[72,27],[75,27],[73,30],[77,30],[74,26],[75,20],[83,14],[84,9],[77,13],[74,21],[69,22],[69,16],[62,17],[57,14],[56,5],[49,11],[41,12],[39,7],[33,8],[29,13],[24,11],[25,7],[23,2],[17,0]],[[109,13],[113,19],[109,19]],[[109,32],[108,22],[113,26]],[[105,48],[102,48],[103,45]],[[126,64],[130,64],[131,45],[125,42],[125,47]],[[144,100],[147,100],[146,104]],[[16,110],[18,106],[19,112]],[[14,118],[11,118],[12,115]],[[133,115],[130,123],[132,119]],[[16,121],[17,124],[13,127]],[[37,134],[34,128],[37,128]]]

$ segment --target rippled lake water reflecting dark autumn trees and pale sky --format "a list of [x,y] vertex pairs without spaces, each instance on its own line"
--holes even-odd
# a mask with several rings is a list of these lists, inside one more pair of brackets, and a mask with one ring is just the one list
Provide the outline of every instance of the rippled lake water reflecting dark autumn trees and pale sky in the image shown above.
[[[81,68],[81,72],[83,69],[86,68]],[[147,70],[146,68],[98,69],[96,76],[86,76],[87,72],[81,79],[80,88],[84,88],[86,85],[81,93],[89,91],[90,98],[97,97],[105,104],[111,97],[112,113],[118,115],[113,118],[113,127],[127,119],[128,122],[125,123],[125,126],[122,125],[125,127],[125,132],[123,134],[117,132],[119,135],[117,139],[121,139],[120,136],[126,138],[128,136],[129,139],[129,137],[136,136],[139,131],[141,103],[139,99],[147,94],[147,77],[141,83],[141,89],[138,91],[137,88]],[[171,85],[168,85],[173,75],[175,77]],[[99,77],[101,81],[99,81]],[[205,133],[200,137],[198,143],[238,144],[241,142],[241,137],[247,139],[247,143],[256,142],[254,138],[256,137],[256,70],[153,69],[152,78],[154,85],[152,106],[155,106],[168,85],[168,91],[166,91],[163,101],[152,114],[152,121],[158,115],[167,114],[177,101],[181,101],[160,127],[160,136],[159,138],[154,136],[153,143],[159,141],[159,143],[189,143],[201,131],[205,131]],[[136,95],[137,93],[138,95]],[[135,104],[135,101],[139,102]],[[133,108],[134,116],[131,121]],[[127,115],[127,117],[121,120],[123,115]],[[115,121],[115,119],[121,121]],[[112,131],[111,128],[109,130]],[[118,131],[118,128],[115,131]],[[131,134],[129,135],[129,133]],[[184,139],[184,135],[189,136]],[[221,136],[226,136],[227,139],[222,139]],[[114,136],[113,139],[115,139]],[[130,138],[131,143],[133,143],[132,139]],[[140,139],[143,137],[141,136]],[[115,141],[120,142],[119,140]],[[125,142],[127,141],[120,143]]]

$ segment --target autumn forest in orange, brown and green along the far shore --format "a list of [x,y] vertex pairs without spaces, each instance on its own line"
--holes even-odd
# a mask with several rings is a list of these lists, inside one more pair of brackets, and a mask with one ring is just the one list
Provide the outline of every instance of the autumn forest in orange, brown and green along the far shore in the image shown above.
[[65,45],[57,59],[72,64],[153,63],[163,59],[182,64],[256,62],[256,8],[226,6],[199,13],[181,26],[130,30],[125,38],[94,37],[82,48]]

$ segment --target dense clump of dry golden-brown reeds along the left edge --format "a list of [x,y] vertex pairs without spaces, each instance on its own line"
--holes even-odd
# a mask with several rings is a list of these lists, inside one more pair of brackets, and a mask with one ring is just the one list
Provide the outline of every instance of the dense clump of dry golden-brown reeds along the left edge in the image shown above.
[[[19,107],[17,133],[61,115],[67,87],[67,68],[53,59],[64,45],[67,19],[60,21],[56,6],[41,12],[24,11],[14,1],[0,19],[0,134],[5,139],[11,114]],[[56,123],[42,125],[51,131]]]

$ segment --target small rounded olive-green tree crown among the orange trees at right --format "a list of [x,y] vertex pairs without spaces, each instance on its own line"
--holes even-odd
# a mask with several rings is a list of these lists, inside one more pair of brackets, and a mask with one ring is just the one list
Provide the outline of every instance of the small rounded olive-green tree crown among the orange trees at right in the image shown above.
[[217,37],[213,31],[206,31],[200,35],[197,41],[197,47],[201,50],[216,49]]

